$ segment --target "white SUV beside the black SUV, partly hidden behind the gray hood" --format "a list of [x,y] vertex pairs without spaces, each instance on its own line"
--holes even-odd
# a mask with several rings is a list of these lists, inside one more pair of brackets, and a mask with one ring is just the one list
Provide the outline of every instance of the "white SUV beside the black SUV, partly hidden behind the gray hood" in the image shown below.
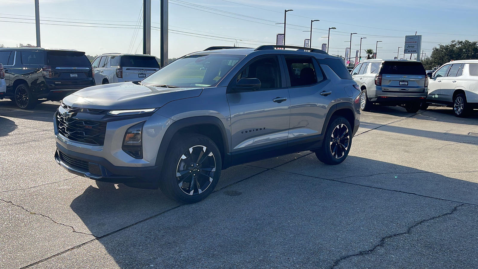
[[159,69],[156,57],[142,54],[103,54],[91,65],[94,68],[97,85],[139,81]]

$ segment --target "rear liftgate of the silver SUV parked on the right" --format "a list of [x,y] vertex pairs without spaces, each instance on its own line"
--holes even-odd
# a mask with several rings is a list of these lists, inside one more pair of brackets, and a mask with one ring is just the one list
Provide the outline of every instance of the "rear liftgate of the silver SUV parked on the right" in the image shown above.
[[383,92],[424,92],[426,74],[421,62],[385,61],[380,74]]

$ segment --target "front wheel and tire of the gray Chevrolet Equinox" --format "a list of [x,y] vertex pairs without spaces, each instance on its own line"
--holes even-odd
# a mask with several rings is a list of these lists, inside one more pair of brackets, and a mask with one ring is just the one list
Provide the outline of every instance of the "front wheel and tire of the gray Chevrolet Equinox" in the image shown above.
[[214,191],[221,175],[219,149],[201,134],[178,135],[168,147],[164,160],[159,187],[164,195],[180,203],[195,203],[206,198]]

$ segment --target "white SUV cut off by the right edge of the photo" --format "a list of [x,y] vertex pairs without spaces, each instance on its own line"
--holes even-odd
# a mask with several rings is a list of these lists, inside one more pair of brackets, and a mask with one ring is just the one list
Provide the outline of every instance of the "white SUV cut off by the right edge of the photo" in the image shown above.
[[429,104],[445,105],[453,107],[457,117],[478,109],[478,60],[449,62],[427,75],[430,83],[423,109]]

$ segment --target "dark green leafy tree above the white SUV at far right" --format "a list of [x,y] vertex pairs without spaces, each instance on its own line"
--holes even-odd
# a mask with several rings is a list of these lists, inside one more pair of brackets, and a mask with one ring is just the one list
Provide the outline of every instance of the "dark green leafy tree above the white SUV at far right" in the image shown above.
[[433,48],[432,55],[422,61],[425,69],[439,67],[451,60],[478,59],[478,41],[452,40],[450,44]]

